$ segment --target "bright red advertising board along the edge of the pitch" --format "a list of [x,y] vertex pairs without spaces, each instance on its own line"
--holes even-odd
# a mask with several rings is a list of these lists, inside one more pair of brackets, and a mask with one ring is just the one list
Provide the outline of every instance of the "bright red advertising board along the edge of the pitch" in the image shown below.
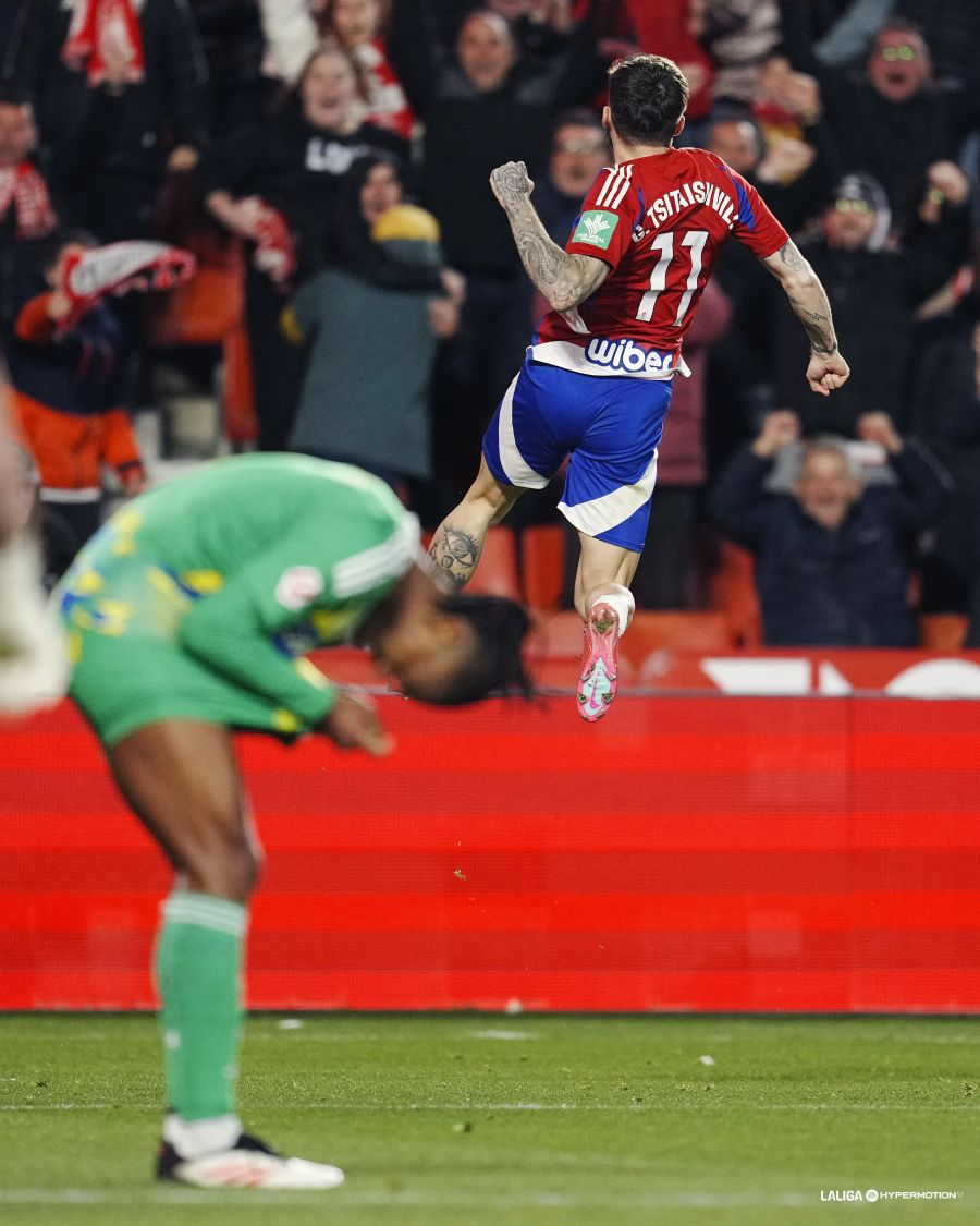
[[[251,1007],[980,1010],[980,705],[381,702],[383,761],[240,741]],[[168,873],[70,704],[0,731],[0,1008],[153,1005]]]

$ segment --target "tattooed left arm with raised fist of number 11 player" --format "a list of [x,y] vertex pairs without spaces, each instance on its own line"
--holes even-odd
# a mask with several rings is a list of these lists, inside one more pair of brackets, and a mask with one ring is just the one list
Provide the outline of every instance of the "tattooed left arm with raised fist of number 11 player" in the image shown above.
[[595,293],[609,265],[590,255],[570,255],[548,237],[530,202],[534,184],[523,162],[507,162],[490,175],[490,186],[507,215],[521,260],[538,292],[555,310],[571,310]]

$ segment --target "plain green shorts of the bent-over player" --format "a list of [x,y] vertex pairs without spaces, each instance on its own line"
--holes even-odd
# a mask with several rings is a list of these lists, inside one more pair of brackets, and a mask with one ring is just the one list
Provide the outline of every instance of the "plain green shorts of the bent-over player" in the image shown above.
[[75,629],[71,645],[76,664],[69,693],[105,745],[163,720],[279,736],[304,731],[292,711],[211,672],[174,644]]

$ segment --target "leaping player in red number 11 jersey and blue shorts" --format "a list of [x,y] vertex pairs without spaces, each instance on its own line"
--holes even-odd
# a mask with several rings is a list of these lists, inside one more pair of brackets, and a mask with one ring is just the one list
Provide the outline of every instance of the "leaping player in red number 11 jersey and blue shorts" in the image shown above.
[[484,435],[479,474],[442,521],[432,563],[464,584],[486,532],[570,455],[559,509],[578,530],[575,604],[586,623],[578,710],[603,716],[616,694],[616,645],[633,614],[657,446],[681,341],[722,243],[734,234],[779,280],[810,337],[806,379],[828,395],[848,378],[823,287],[756,190],[719,157],[675,150],[688,88],[659,55],[610,69],[615,166],[601,170],[565,250],[530,204],[523,162],[490,183],[528,276],[554,308]]

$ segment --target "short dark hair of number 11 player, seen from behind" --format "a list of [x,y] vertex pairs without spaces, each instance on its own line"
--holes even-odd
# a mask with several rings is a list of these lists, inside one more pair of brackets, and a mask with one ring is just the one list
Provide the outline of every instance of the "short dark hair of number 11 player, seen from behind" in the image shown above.
[[663,55],[632,55],[609,69],[609,112],[630,145],[669,145],[691,88]]

